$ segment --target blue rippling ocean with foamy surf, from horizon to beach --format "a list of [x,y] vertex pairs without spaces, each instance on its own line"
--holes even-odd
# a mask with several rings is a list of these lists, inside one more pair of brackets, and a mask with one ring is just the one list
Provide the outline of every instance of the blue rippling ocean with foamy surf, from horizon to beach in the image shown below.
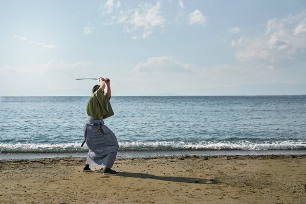
[[[89,96],[0,97],[0,159],[86,157]],[[306,154],[306,96],[112,96],[118,157]]]

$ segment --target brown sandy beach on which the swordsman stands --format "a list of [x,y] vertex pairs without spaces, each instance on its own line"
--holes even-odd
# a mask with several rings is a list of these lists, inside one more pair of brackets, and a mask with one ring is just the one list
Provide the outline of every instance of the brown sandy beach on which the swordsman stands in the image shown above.
[[306,155],[0,161],[0,204],[306,204]]

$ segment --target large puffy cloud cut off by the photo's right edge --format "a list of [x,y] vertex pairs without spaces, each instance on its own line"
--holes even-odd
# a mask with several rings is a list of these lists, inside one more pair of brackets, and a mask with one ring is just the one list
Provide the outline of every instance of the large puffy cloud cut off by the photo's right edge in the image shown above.
[[239,62],[251,62],[269,69],[289,67],[306,60],[306,12],[267,22],[257,36],[232,41]]

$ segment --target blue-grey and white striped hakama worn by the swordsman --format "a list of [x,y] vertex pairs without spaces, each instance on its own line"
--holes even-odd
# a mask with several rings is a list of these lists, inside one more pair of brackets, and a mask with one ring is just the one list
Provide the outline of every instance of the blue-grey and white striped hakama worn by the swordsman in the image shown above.
[[103,168],[112,167],[119,148],[115,134],[101,119],[89,116],[84,127],[84,136],[87,147],[87,164]]

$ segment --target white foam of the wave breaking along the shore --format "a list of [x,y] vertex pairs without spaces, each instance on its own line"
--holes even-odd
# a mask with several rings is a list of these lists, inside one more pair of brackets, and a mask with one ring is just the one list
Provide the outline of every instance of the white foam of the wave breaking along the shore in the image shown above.
[[[179,150],[306,150],[306,140],[274,142],[250,141],[158,141],[119,142],[119,151],[179,151]],[[0,143],[0,153],[77,153],[86,152],[86,144],[81,142],[40,144],[40,143]]]

